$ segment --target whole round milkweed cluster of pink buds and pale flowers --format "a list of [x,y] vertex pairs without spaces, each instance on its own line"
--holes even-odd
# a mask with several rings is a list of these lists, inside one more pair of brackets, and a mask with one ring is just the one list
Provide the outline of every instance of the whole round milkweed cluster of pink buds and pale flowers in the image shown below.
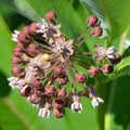
[[[66,107],[81,113],[82,96],[90,99],[93,107],[99,106],[103,100],[96,96],[94,84],[88,84],[87,80],[100,73],[105,75],[113,73],[113,65],[120,62],[120,55],[116,53],[114,47],[104,49],[95,46],[95,52],[77,51],[87,39],[102,35],[99,18],[91,15],[87,20],[87,28],[75,41],[67,40],[61,32],[61,25],[55,24],[56,14],[53,11],[49,11],[46,18],[50,23],[46,21],[31,23],[13,34],[12,40],[16,46],[12,56],[13,77],[8,79],[9,84],[13,89],[20,89],[21,95],[37,106],[39,116],[46,118],[50,117],[51,110],[55,117],[62,118]],[[82,38],[88,29],[92,29],[91,34]],[[94,56],[89,58],[88,54]],[[86,60],[99,62],[100,67],[87,64]],[[104,60],[107,61],[105,65],[102,64]],[[77,65],[87,70],[79,72]],[[78,90],[78,83],[84,89]]]

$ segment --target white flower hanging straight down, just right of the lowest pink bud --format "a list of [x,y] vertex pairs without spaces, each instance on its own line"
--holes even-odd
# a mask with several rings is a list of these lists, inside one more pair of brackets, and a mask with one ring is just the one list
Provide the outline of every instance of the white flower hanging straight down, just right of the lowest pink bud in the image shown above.
[[72,105],[70,105],[70,109],[72,109],[73,112],[78,112],[78,113],[80,114],[81,110],[82,110],[82,105],[81,105],[81,103],[79,102],[79,101],[80,101],[80,98],[79,98],[78,95],[74,95],[74,96],[73,96],[73,100],[74,100],[74,102],[73,102]]

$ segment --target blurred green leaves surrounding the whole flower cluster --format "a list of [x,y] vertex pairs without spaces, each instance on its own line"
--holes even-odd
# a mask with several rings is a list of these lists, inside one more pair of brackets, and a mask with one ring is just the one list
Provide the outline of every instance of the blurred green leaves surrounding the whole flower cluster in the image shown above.
[[[0,130],[130,130],[130,1],[121,0],[0,0]],[[86,27],[86,18],[96,14],[104,28],[101,39],[92,39],[81,50],[92,50],[93,44],[115,46],[122,61],[115,73],[102,77],[98,94],[104,104],[94,109],[82,99],[83,110],[74,114],[66,109],[62,119],[38,116],[18,90],[12,91],[6,78],[11,77],[11,56],[15,43],[11,41],[14,29],[21,29],[28,20],[39,22],[48,10],[57,13],[57,23],[68,38],[76,38]],[[88,46],[89,44],[89,46]]]

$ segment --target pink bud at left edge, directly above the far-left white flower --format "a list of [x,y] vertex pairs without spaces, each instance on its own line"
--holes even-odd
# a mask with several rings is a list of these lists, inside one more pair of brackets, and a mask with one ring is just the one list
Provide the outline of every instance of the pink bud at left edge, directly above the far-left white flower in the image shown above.
[[21,77],[21,76],[24,75],[24,69],[21,68],[20,66],[14,66],[14,67],[12,68],[12,75],[13,75],[13,76],[16,76],[16,77]]

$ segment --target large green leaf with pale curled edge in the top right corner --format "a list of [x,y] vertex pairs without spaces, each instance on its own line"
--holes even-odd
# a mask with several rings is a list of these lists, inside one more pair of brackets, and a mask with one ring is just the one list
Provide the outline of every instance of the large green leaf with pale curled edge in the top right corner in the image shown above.
[[121,0],[80,0],[80,2],[88,11],[100,17],[110,41],[120,36],[129,26],[129,0],[125,2]]

